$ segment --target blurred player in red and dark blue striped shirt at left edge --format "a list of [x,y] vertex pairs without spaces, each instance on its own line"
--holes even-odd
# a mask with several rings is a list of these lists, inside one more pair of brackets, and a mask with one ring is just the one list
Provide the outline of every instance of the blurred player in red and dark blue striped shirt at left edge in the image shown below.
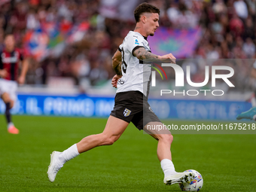
[[[20,61],[23,63],[19,76]],[[17,100],[17,83],[24,84],[29,63],[23,59],[19,49],[15,48],[14,35],[5,36],[5,49],[0,52],[0,96],[5,102],[5,117],[8,123],[8,133],[18,134],[19,130],[11,121],[11,108]]]

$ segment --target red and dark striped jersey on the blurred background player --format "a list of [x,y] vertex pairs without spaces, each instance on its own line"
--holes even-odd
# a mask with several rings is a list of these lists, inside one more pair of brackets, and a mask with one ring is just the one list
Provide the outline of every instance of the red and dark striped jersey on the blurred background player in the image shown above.
[[23,55],[20,50],[15,48],[12,52],[3,50],[0,52],[0,69],[6,69],[8,76],[7,80],[17,81],[19,75],[19,62],[23,60]]

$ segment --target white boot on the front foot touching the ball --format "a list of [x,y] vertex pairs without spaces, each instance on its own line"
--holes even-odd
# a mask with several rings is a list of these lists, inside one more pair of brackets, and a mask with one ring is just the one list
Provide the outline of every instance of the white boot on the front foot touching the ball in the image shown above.
[[163,183],[170,185],[176,183],[189,183],[195,177],[193,172],[177,172],[174,175],[166,176]]

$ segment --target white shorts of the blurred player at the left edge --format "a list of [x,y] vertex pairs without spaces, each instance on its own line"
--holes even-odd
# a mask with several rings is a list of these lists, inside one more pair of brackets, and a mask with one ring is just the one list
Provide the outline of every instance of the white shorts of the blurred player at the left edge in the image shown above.
[[17,88],[18,84],[16,81],[6,80],[3,78],[0,78],[0,95],[4,93],[8,93],[11,100],[16,102],[17,100]]

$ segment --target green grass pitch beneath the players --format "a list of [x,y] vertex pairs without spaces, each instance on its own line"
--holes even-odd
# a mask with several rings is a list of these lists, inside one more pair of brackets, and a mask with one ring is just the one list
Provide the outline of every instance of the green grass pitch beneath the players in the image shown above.
[[[133,124],[114,145],[94,148],[66,163],[50,183],[46,173],[50,153],[101,133],[106,119],[13,119],[19,135],[8,134],[0,116],[0,191],[181,191],[178,184],[163,184],[157,141]],[[178,172],[199,171],[204,179],[202,191],[256,191],[255,148],[256,134],[180,134],[174,135],[172,161]]]

